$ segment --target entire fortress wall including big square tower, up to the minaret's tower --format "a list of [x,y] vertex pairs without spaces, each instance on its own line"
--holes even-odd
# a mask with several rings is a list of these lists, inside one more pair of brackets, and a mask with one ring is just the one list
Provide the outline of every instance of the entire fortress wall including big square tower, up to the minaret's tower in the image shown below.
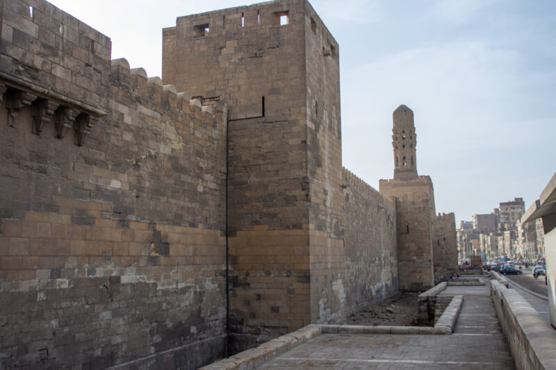
[[309,3],[178,18],[165,84],[46,1],[0,15],[1,367],[196,368],[397,292]]

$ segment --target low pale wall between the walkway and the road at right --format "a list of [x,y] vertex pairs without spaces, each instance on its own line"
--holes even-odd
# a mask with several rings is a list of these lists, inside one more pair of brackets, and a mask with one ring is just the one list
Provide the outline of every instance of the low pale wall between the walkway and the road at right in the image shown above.
[[498,280],[491,280],[491,297],[516,369],[556,369],[556,330]]

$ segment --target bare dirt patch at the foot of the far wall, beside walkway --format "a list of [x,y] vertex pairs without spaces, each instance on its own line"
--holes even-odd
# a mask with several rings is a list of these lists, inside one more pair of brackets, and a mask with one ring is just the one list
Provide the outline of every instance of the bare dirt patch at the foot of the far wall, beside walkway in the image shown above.
[[347,325],[416,326],[418,293],[399,292],[347,317]]

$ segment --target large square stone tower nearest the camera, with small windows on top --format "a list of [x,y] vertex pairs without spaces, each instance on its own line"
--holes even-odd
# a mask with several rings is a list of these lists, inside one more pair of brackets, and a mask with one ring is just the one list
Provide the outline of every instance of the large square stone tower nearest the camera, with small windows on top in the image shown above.
[[235,349],[342,321],[338,44],[315,10],[279,0],[179,17],[163,31],[163,81],[228,102]]

